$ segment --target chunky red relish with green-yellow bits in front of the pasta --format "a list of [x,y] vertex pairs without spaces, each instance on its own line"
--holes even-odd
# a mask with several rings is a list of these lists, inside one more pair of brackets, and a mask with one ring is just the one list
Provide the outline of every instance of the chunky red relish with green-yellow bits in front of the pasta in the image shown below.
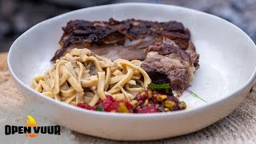
[[112,96],[107,95],[106,98],[96,106],[89,106],[85,103],[78,103],[77,106],[87,110],[118,113],[156,113],[186,109],[186,103],[179,102],[178,98],[150,89],[138,93],[135,98],[130,101],[117,101]]

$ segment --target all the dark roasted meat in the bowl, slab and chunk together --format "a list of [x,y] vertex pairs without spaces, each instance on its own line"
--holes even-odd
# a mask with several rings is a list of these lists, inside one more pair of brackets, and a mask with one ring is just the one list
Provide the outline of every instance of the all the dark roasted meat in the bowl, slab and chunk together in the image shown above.
[[62,46],[52,61],[77,48],[89,48],[107,58],[145,60],[142,69],[154,83],[170,83],[182,94],[198,68],[199,54],[190,41],[190,31],[181,22],[152,22],[136,19],[117,21],[74,20],[62,27]]

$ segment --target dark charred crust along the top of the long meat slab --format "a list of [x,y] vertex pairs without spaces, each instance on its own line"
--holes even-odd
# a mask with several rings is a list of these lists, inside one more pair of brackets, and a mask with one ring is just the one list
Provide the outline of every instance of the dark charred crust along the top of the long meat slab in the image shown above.
[[186,50],[189,46],[190,32],[181,22],[152,22],[135,20],[133,18],[124,21],[117,21],[110,18],[109,21],[84,21],[74,20],[67,22],[62,27],[63,35],[59,41],[62,50],[58,50],[54,61],[62,56],[65,50],[72,44],[83,46],[100,46],[102,44],[122,43],[124,40],[137,40],[152,36],[154,38],[170,38],[179,48]]

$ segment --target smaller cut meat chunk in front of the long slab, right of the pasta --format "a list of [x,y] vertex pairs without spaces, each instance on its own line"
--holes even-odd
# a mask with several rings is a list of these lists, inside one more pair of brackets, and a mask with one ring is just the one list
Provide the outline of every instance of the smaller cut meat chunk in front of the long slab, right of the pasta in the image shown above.
[[142,69],[150,75],[153,83],[170,83],[180,96],[190,86],[199,66],[198,58],[191,42],[187,50],[182,50],[174,41],[164,38],[149,46]]

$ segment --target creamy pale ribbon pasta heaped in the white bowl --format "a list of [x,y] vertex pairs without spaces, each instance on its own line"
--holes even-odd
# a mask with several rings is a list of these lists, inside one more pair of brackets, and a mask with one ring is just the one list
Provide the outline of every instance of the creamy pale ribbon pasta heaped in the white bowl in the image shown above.
[[151,80],[138,60],[111,59],[93,54],[88,49],[73,49],[43,76],[35,77],[33,88],[57,101],[76,106],[95,106],[111,95],[129,100],[146,90]]

